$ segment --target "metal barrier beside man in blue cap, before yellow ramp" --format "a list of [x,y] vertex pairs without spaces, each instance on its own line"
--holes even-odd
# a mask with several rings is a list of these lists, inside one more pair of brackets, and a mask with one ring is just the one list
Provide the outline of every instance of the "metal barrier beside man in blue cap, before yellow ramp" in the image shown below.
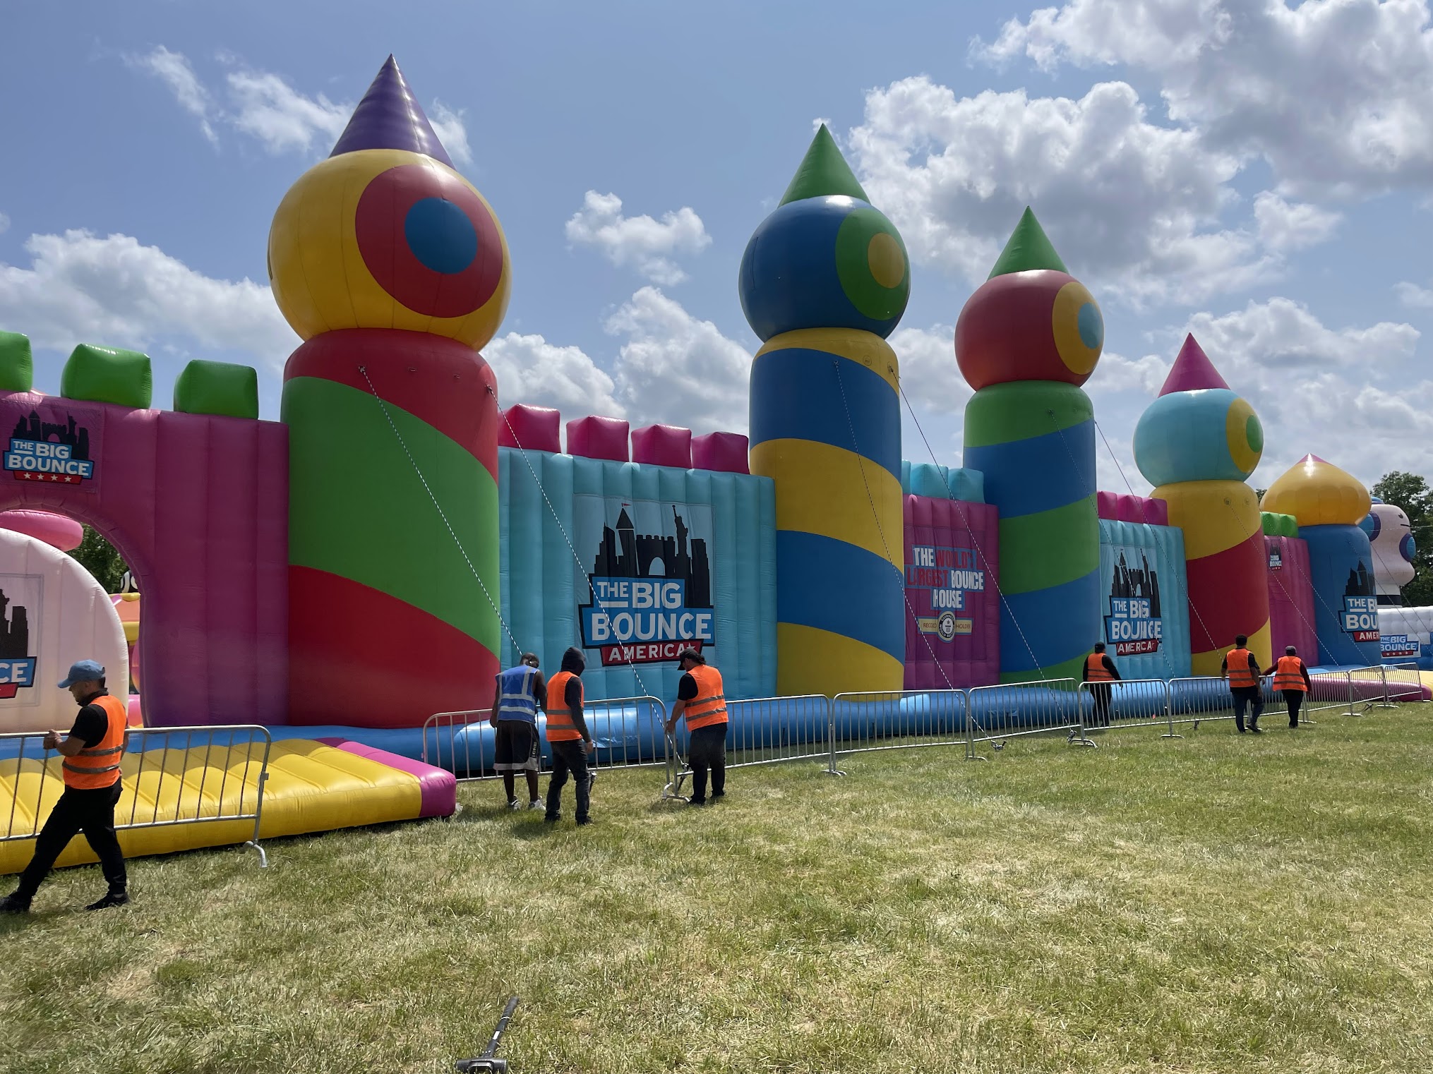
[[[63,790],[64,758],[46,750],[43,740],[43,732],[0,735],[0,842],[39,835]],[[115,831],[252,821],[254,835],[244,845],[267,866],[259,823],[272,745],[258,725],[130,727]]]

